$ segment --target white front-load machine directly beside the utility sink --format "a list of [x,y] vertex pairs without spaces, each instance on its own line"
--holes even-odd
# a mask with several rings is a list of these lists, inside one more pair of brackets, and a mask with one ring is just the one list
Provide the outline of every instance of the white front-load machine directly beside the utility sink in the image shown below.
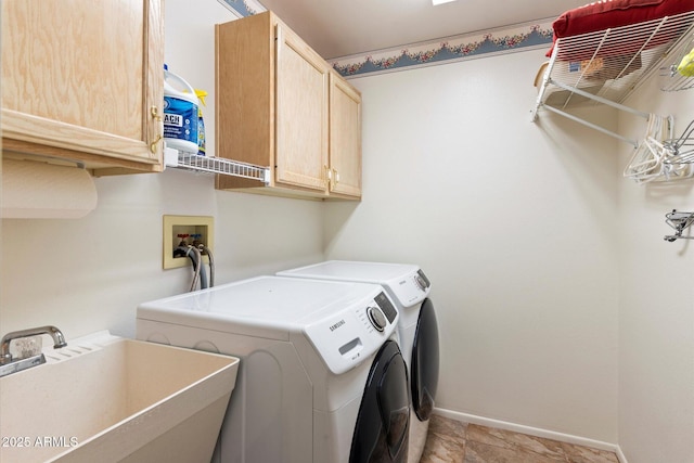
[[260,276],[141,304],[139,339],[241,359],[214,461],[404,463],[410,400],[378,285]]

